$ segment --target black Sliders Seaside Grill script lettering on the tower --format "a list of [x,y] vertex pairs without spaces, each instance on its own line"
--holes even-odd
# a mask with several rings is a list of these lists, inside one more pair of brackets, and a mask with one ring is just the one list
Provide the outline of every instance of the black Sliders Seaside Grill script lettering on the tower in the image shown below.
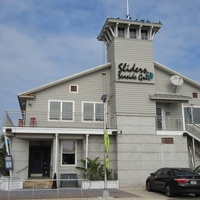
[[146,68],[136,67],[135,63],[132,66],[127,63],[120,63],[118,65],[118,79],[150,81],[153,79],[153,73]]

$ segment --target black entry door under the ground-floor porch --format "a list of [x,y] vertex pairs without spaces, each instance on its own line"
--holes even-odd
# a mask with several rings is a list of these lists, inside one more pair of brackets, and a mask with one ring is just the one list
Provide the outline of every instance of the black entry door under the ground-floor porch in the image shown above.
[[30,147],[29,177],[49,177],[49,175],[50,147]]

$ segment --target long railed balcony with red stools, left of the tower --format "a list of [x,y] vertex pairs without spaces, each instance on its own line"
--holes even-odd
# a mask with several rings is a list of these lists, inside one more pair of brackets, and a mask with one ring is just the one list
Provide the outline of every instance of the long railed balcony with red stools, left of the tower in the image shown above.
[[[52,117],[53,116],[53,117]],[[56,117],[55,117],[56,116]],[[59,116],[59,117],[57,117]],[[116,128],[111,124],[113,116],[106,117],[106,127]],[[95,128],[103,129],[103,114],[56,113],[50,115],[43,111],[6,111],[3,127],[39,127],[39,128]]]

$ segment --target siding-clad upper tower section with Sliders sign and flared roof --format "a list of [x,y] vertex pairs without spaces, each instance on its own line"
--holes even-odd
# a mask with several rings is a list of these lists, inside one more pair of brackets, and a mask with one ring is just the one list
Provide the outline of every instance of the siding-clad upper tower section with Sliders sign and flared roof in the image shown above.
[[113,113],[155,114],[147,95],[154,92],[152,43],[161,26],[161,22],[129,17],[106,20],[97,39],[105,43],[107,61],[112,63],[110,102]]

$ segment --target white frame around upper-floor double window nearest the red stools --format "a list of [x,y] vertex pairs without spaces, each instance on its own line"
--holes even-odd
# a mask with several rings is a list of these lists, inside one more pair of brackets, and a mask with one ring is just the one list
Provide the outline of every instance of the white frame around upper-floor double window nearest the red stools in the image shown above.
[[[60,118],[58,120],[56,119],[50,119],[50,103],[51,102],[59,102],[61,104],[60,106]],[[63,120],[62,119],[62,105],[63,103],[72,103],[72,120]],[[54,121],[54,122],[74,122],[74,101],[63,101],[63,100],[49,100],[48,101],[48,121]]]

